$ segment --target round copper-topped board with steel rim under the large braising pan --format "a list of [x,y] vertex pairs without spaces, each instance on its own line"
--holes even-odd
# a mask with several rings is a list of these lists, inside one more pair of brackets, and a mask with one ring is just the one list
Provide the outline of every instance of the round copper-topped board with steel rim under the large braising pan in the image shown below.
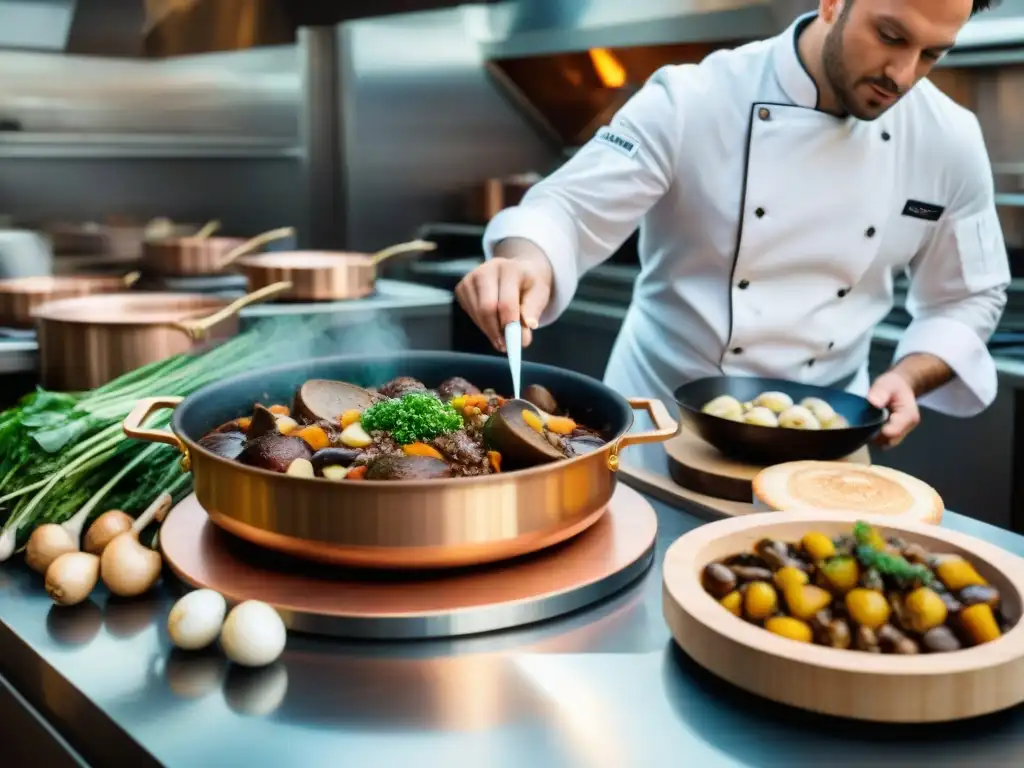
[[607,512],[578,537],[475,568],[371,572],[296,560],[224,532],[195,495],[170,512],[160,546],[185,584],[229,602],[267,602],[290,629],[383,639],[489,632],[577,610],[643,574],[656,534],[653,508],[620,483]]

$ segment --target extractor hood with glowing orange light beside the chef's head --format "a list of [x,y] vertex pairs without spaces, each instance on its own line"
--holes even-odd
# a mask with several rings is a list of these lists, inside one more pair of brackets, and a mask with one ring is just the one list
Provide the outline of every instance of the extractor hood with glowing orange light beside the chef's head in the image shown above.
[[815,0],[517,0],[478,16],[488,66],[564,146],[585,143],[658,69],[775,35]]

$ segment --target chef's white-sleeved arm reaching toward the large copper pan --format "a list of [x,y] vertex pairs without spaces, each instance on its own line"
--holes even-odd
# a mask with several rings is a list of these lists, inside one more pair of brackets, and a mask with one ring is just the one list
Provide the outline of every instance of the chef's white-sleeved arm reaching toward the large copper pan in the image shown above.
[[580,278],[606,260],[669,189],[682,117],[685,68],[659,70],[561,168],[499,213],[483,237],[487,258],[547,257],[552,297],[541,325],[568,306]]

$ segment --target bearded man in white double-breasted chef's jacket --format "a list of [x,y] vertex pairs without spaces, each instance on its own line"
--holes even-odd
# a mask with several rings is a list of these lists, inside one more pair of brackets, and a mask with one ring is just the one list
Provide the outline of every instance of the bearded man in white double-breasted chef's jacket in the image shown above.
[[[821,0],[778,37],[659,70],[490,221],[460,303],[498,349],[516,319],[528,344],[639,225],[605,373],[618,392],[672,402],[721,374],[838,387],[890,409],[885,445],[919,402],[980,413],[1006,245],[978,121],[923,78],[990,4]],[[913,319],[872,383],[871,332],[903,272]],[[664,462],[655,446],[638,463]]]

